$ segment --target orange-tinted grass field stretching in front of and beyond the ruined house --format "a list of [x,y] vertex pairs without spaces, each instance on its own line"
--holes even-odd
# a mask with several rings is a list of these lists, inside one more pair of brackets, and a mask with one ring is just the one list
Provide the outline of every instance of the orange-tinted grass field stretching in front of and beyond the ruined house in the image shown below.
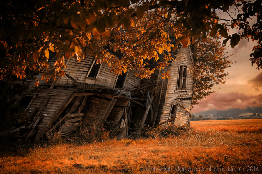
[[20,148],[1,154],[0,173],[262,173],[262,134],[253,130],[262,120],[191,124],[178,137]]

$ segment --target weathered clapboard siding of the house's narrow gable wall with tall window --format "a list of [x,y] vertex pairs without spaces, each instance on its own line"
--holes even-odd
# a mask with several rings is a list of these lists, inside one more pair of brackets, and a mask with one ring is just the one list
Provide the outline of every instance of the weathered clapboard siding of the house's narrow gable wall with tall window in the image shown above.
[[[176,104],[173,99],[177,99],[183,106],[190,110],[191,100],[182,100],[180,98],[190,98],[192,97],[193,89],[193,63],[190,57],[189,48],[181,48],[176,55],[176,59],[172,61],[172,66],[170,66],[170,79],[167,86],[167,95],[163,96],[164,106],[162,114],[160,117],[160,123],[164,122],[169,118],[171,107],[173,104]],[[178,72],[179,66],[183,64],[187,66],[187,84],[186,89],[177,88],[178,84]],[[189,120],[189,113],[186,114],[186,110],[178,104],[177,114],[176,114],[175,124],[187,124]]]

